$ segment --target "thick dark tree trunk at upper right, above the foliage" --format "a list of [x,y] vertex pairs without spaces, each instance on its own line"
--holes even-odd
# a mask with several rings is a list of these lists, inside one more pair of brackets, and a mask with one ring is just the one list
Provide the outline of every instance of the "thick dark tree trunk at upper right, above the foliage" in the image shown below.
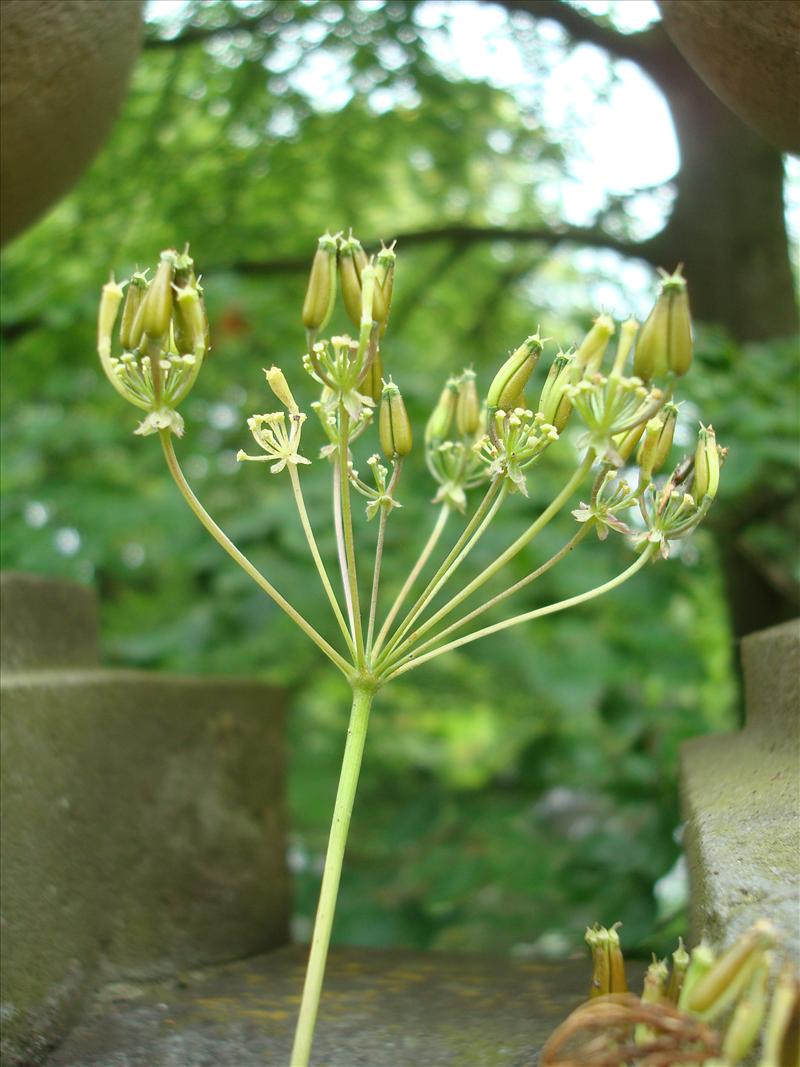
[[781,153],[717,99],[666,36],[647,71],[670,107],[681,170],[670,220],[642,252],[669,269],[686,262],[698,319],[737,340],[790,336],[798,320]]

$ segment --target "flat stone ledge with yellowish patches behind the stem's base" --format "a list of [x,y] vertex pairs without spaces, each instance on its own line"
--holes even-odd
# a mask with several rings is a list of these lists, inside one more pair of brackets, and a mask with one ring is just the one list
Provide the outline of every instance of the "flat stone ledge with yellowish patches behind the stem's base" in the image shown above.
[[[287,1067],[306,951],[107,987],[48,1067]],[[532,1067],[586,997],[587,960],[334,949],[313,1063]]]

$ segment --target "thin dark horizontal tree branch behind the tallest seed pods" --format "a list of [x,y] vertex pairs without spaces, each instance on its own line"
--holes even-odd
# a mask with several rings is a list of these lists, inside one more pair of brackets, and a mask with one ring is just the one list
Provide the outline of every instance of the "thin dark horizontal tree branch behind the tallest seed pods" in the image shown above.
[[[415,229],[405,234],[393,234],[402,249],[417,245],[433,244],[437,241],[449,241],[458,249],[484,241],[512,241],[514,243],[546,244],[556,248],[559,244],[580,244],[591,249],[610,249],[623,256],[635,256],[650,261],[645,244],[612,237],[602,229],[592,226],[471,226],[466,223],[453,223],[449,226],[437,226],[432,229]],[[378,246],[380,241],[366,241],[367,248]],[[293,274],[308,270],[309,257],[281,256],[275,259],[243,259],[233,264],[218,265],[218,270],[226,269],[239,274]],[[206,268],[206,273],[212,268]]]

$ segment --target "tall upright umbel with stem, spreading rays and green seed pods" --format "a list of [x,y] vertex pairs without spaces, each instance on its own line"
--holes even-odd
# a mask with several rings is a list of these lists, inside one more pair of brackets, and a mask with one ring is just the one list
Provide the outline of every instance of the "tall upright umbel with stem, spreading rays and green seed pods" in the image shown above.
[[[667,275],[641,332],[634,319],[623,322],[618,331],[610,316],[601,314],[577,347],[549,359],[548,341],[537,329],[509,356],[498,360],[485,393],[471,366],[453,368],[444,383],[421,435],[426,465],[434,482],[432,528],[399,591],[390,603],[382,603],[386,525],[401,508],[401,476],[414,445],[401,383],[395,381],[399,368],[393,366],[390,345],[384,344],[396,271],[394,244],[383,245],[370,256],[352,234],[322,235],[301,316],[305,353],[293,361],[294,368],[284,362],[265,370],[279,408],[251,416],[247,427],[259,451],[250,455],[240,450],[237,457],[242,462],[267,464],[272,475],[288,478],[308,552],[338,626],[334,641],[323,637],[220,529],[192,492],[175,455],[172,435],[179,435],[183,428],[177,409],[194,385],[208,351],[203,293],[188,252],[162,253],[153,281],[148,282],[147,272],[137,272],[127,291],[112,280],[102,291],[98,317],[98,351],[106,373],[126,400],[146,412],[137,432],[159,434],[170,472],[197,519],[315,642],[352,689],[351,721],[293,1067],[304,1067],[310,1054],[350,811],[374,695],[430,659],[509,626],[577,607],[611,592],[658,556],[667,557],[670,547],[691,534],[711,506],[724,457],[711,428],[701,427],[694,453],[681,460],[672,474],[659,475],[662,468],[669,471],[678,418],[673,388],[688,369],[690,357],[688,298],[679,272]],[[321,336],[329,323],[337,321],[339,296],[343,315],[338,329],[348,329],[345,320],[349,319],[354,335]],[[115,355],[112,335],[121,307],[122,354]],[[549,366],[537,384],[542,361]],[[314,448],[303,441],[309,431],[303,391],[295,385],[300,367],[318,391],[310,410],[319,424],[316,432],[322,433],[319,459],[331,475],[335,560],[324,559],[320,552],[315,534],[315,522],[320,520],[309,515],[301,483],[301,472],[314,462]],[[537,395],[535,404],[525,399]],[[366,450],[369,474],[365,477],[355,460],[363,439],[370,442]],[[530,513],[511,544],[453,591],[457,575],[467,566],[498,511],[512,496],[526,503],[529,479],[535,477],[535,468],[554,448],[574,461],[563,487],[543,509]],[[256,469],[265,467],[254,468],[254,474]],[[364,603],[362,593],[367,586],[361,580],[363,561],[354,537],[353,494],[364,499],[366,519],[374,521],[375,529],[369,596]],[[470,507],[473,494],[478,500]],[[476,598],[469,610],[462,608],[517,560],[560,512],[569,512],[575,504],[578,506],[572,508],[572,515],[577,529],[573,527],[561,547],[522,577],[516,567],[509,586],[482,602]],[[526,503],[526,507],[531,509],[532,505]],[[461,515],[464,519],[451,547],[441,552],[446,527]],[[491,625],[475,626],[484,612],[497,609],[566,559],[590,530],[601,540],[611,534],[626,538],[634,552],[629,566],[608,582],[565,600],[509,612]],[[337,579],[331,577],[332,566],[338,571]],[[449,596],[441,595],[446,589]],[[597,990],[621,992],[625,980],[618,934],[613,928],[597,929],[593,937]],[[695,972],[693,959],[685,974],[684,991]],[[608,988],[603,974],[608,975]],[[659,968],[651,977],[653,1003],[637,1006],[641,1017],[634,1021],[649,1033],[660,1033],[653,1013],[661,1007],[667,978]],[[674,985],[672,978],[669,982]],[[620,1010],[630,1009],[628,1001],[620,1005]],[[669,1031],[670,1025],[661,1030]],[[752,1025],[752,1014],[741,1020],[740,1031],[748,1025]]]

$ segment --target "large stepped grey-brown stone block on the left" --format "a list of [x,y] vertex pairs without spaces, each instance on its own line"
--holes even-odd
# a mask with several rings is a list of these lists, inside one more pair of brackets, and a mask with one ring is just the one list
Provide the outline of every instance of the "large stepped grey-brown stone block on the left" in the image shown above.
[[[91,619],[83,591],[61,587],[14,585],[13,662],[67,655],[66,637],[26,628],[44,603],[64,593],[68,626]],[[37,598],[28,609],[26,590]],[[0,733],[3,1064],[41,1062],[98,975],[173,973],[286,943],[279,692],[6,668]]]

